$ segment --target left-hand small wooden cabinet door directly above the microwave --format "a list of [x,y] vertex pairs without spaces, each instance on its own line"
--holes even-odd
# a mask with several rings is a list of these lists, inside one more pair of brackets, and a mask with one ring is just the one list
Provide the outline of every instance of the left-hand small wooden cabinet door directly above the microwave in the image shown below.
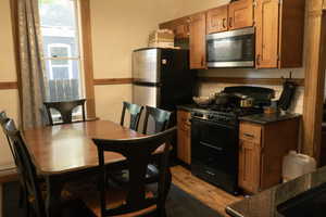
[[212,9],[206,13],[206,33],[220,33],[228,29],[228,5]]

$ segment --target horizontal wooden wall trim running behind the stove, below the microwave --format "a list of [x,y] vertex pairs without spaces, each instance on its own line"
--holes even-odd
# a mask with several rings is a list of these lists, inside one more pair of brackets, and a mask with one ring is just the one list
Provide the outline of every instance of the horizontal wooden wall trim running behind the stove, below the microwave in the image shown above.
[[[244,77],[199,77],[201,82],[225,82],[225,84],[243,84],[243,85],[275,85],[281,86],[283,78],[244,78]],[[293,78],[291,81],[298,86],[304,86],[304,78]]]

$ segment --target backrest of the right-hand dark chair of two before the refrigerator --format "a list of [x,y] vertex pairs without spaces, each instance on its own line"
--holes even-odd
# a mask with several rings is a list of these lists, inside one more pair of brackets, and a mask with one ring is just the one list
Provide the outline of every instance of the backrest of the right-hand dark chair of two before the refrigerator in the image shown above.
[[170,125],[170,118],[172,113],[165,110],[161,110],[158,107],[146,106],[146,116],[143,122],[143,130],[142,133],[148,135],[148,125],[149,125],[149,117],[154,119],[154,131],[151,133],[158,133],[165,129],[167,129]]

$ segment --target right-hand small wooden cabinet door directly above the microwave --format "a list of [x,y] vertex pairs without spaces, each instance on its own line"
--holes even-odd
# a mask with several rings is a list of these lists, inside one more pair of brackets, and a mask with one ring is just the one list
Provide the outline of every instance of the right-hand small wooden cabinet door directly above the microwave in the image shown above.
[[228,28],[253,26],[253,0],[239,0],[229,4]]

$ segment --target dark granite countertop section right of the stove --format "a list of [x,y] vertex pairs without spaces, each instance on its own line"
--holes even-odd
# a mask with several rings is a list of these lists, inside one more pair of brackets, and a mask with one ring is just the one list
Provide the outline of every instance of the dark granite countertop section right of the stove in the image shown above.
[[286,119],[292,119],[300,117],[300,114],[294,113],[275,113],[275,114],[255,114],[240,117],[240,120],[251,122],[260,125],[266,125],[269,123],[281,122]]

